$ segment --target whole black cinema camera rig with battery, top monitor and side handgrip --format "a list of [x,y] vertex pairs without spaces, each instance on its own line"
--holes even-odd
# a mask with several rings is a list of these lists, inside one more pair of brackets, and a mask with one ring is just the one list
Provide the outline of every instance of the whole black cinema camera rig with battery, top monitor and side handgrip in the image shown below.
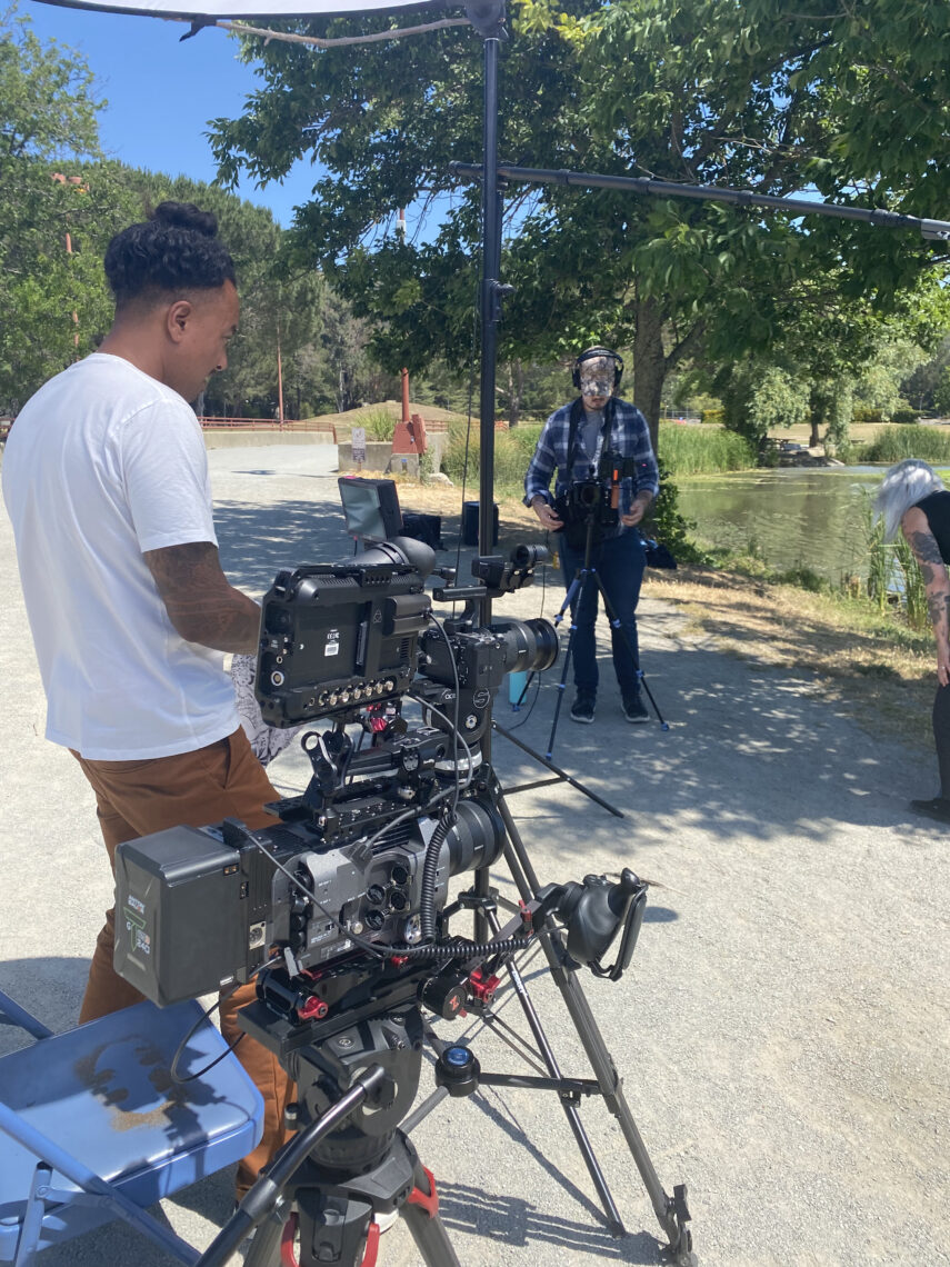
[[[390,481],[343,483],[356,488],[345,504],[361,485],[394,492]],[[351,522],[365,537],[362,511]],[[281,571],[262,603],[255,692],[272,726],[332,722],[303,736],[313,777],[301,796],[269,806],[274,827],[227,820],[122,845],[117,971],[161,1006],[258,974],[258,997],[291,1029],[352,1009],[356,996],[371,993],[374,1007],[405,997],[407,982],[452,959],[519,949],[548,914],[564,917],[579,962],[622,971],[645,900],[632,873],[548,886],[490,945],[445,935],[448,878],[491,865],[504,840],[480,753],[491,698],[505,673],[557,658],[547,621],[480,627],[476,604],[529,584],[545,557],[524,546],[508,561],[476,557],[467,587],[442,569],[434,598],[466,604],[445,623],[423,589],[436,557],[418,541],[396,536],[346,561]],[[404,698],[421,704],[422,725],[408,726]],[[358,744],[347,730],[357,726]],[[621,925],[626,962],[608,969],[600,960]],[[464,978],[429,982],[423,1001],[453,1012]]]

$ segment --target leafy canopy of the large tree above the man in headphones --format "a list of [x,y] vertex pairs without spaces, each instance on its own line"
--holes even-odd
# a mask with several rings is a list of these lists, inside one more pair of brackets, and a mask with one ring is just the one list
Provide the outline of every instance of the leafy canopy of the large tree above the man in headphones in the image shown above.
[[[911,8],[926,10],[925,38],[941,20],[935,0],[898,8],[902,20],[884,24],[894,46],[912,47]],[[854,89],[854,105],[835,95],[833,76],[851,67],[858,82],[852,63],[868,54],[865,24],[854,34],[849,13],[818,0],[794,13],[784,0],[521,0],[500,67],[502,155],[526,166],[841,194],[870,158],[860,138],[836,131],[868,96],[866,85],[864,99]],[[339,35],[380,22],[291,27]],[[875,65],[890,51],[875,49]],[[247,42],[244,56],[260,58],[263,87],[242,119],[217,120],[222,176],[247,167],[276,179],[296,157],[317,157],[329,176],[298,214],[299,250],[372,323],[374,351],[390,369],[419,370],[437,355],[461,369],[479,190],[453,190],[447,169],[480,155],[480,42],[461,30],[320,52]],[[926,67],[927,82],[945,75],[932,53]],[[897,122],[899,134],[911,106],[897,87],[887,105],[874,127]],[[907,179],[909,166],[893,165],[870,194],[893,201]],[[940,214],[925,193],[915,209]],[[443,213],[429,241],[394,232],[395,209],[414,203]],[[868,289],[885,308],[932,256],[901,234],[609,193],[517,188],[505,204],[503,275],[517,293],[502,359],[551,361],[599,340],[631,346],[633,397],[654,424],[665,376],[700,347],[722,360],[761,352],[799,321],[808,300],[799,279],[835,271],[858,294],[870,258]]]

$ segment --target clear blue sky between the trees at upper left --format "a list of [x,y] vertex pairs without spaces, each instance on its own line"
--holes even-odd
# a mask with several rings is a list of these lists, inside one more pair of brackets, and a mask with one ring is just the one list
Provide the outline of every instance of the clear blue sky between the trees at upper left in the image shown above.
[[[212,148],[203,136],[208,120],[241,114],[257,82],[252,67],[236,60],[237,43],[227,32],[203,30],[181,44],[187,27],[177,22],[29,0],[20,11],[41,39],[58,39],[85,57],[98,95],[109,103],[99,114],[99,136],[111,157],[170,176],[214,180]],[[315,174],[301,162],[282,185],[255,189],[246,180],[237,191],[270,208],[288,227],[294,205],[309,200]]]

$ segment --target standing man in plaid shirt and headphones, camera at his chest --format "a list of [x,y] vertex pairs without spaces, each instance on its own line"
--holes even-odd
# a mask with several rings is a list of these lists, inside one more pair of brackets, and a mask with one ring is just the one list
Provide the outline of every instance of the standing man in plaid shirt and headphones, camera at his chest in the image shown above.
[[[638,675],[636,609],[645,556],[637,525],[660,484],[646,418],[616,395],[622,375],[623,361],[608,347],[589,347],[578,356],[571,376],[580,395],[547,419],[524,478],[526,506],[546,528],[560,533],[557,552],[565,585],[570,588],[583,574],[580,595],[573,603],[576,698],[571,718],[586,725],[597,707],[598,585],[585,568],[600,578],[619,621],[611,635],[623,716],[630,722],[649,720]],[[613,503],[616,513],[611,516],[607,511]]]

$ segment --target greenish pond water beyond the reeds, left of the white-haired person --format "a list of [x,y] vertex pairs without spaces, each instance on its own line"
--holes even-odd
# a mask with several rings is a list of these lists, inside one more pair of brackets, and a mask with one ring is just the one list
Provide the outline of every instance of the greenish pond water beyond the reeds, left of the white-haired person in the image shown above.
[[679,508],[711,545],[749,550],[785,571],[866,575],[865,511],[884,466],[785,468],[680,476]]

